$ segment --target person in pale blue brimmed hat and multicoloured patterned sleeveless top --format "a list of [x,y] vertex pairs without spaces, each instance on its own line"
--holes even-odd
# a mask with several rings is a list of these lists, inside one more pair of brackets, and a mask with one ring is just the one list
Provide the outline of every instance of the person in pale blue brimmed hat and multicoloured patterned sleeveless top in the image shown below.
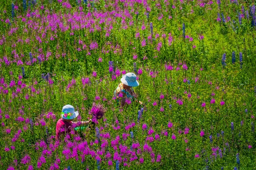
[[[125,105],[126,102],[138,102],[137,95],[134,93],[134,89],[132,87],[137,87],[139,82],[136,79],[136,75],[134,73],[127,73],[123,75],[121,79],[121,83],[117,86],[114,91],[114,96],[117,99],[117,102],[121,102],[121,106]],[[142,102],[139,101],[140,104]]]

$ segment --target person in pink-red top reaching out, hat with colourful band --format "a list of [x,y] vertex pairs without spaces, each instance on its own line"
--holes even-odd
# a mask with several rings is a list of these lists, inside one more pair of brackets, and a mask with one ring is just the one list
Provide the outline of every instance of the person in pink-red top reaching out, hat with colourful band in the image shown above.
[[78,111],[75,111],[72,105],[65,105],[62,108],[61,119],[58,119],[56,124],[56,140],[60,139],[61,135],[64,135],[65,133],[69,134],[72,127],[88,125],[92,121],[90,119],[87,122],[72,122],[72,120],[75,119],[78,115]]

